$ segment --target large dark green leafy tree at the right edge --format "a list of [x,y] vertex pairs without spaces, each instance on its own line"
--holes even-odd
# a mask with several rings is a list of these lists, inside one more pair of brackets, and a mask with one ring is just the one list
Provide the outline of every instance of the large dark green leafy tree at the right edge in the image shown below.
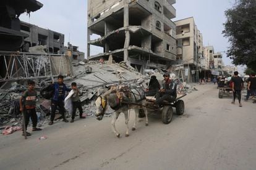
[[223,34],[229,40],[227,55],[235,65],[256,71],[256,1],[237,0],[225,11]]

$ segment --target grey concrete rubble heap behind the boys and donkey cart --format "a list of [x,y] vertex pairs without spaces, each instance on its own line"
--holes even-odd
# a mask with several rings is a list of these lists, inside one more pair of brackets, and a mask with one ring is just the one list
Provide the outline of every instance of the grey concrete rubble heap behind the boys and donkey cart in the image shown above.
[[[73,67],[73,76],[67,76],[64,83],[70,87],[72,82],[77,83],[79,91],[82,92],[80,101],[82,102],[83,114],[87,117],[95,115],[95,100],[96,97],[104,92],[109,86],[121,85],[129,87],[143,87],[148,88],[150,77],[155,75],[160,84],[163,81],[164,70],[144,70],[145,75],[135,71],[135,68],[127,65],[126,62],[114,63],[113,59],[96,61],[84,60],[83,62],[70,63]],[[182,83],[175,73],[170,73],[171,78],[176,79],[177,92],[190,93],[197,91],[194,86]],[[34,79],[36,82],[37,94],[40,94],[40,89],[48,84],[53,83],[53,78]],[[27,89],[24,81],[17,81],[5,86],[6,89],[0,89],[0,128],[1,126],[21,126],[22,116],[19,111],[19,99],[23,91]],[[8,89],[8,88],[9,89]],[[101,90],[98,90],[98,89]],[[36,102],[36,115],[38,116],[38,126],[44,126],[48,123],[49,115],[51,113],[51,101],[43,99],[38,96],[39,100]],[[114,110],[109,108],[106,111],[106,116],[111,116]],[[78,114],[77,114],[78,115]],[[66,112],[66,116],[70,117]],[[56,113],[56,119],[61,118],[61,115]],[[29,125],[31,126],[31,125]]]

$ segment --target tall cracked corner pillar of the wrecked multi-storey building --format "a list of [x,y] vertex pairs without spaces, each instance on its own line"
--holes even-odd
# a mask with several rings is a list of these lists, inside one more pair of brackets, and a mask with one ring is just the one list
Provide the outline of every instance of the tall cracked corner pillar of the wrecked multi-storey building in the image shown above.
[[124,61],[129,64],[128,47],[130,45],[130,32],[129,26],[129,0],[124,0],[124,28],[126,29],[126,40],[124,41]]

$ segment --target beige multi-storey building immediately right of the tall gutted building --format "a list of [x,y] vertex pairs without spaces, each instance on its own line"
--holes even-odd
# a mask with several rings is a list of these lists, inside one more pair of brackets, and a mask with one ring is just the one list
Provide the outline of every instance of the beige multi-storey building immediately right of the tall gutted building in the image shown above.
[[[203,36],[193,17],[177,20],[177,60],[184,64],[187,82],[197,82],[203,60]],[[202,62],[203,63],[203,62]]]

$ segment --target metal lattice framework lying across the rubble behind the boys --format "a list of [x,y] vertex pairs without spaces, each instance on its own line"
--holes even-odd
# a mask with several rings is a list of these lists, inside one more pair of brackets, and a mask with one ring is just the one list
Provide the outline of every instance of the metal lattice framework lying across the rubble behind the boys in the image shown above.
[[64,55],[0,51],[0,82],[70,75],[69,62]]

